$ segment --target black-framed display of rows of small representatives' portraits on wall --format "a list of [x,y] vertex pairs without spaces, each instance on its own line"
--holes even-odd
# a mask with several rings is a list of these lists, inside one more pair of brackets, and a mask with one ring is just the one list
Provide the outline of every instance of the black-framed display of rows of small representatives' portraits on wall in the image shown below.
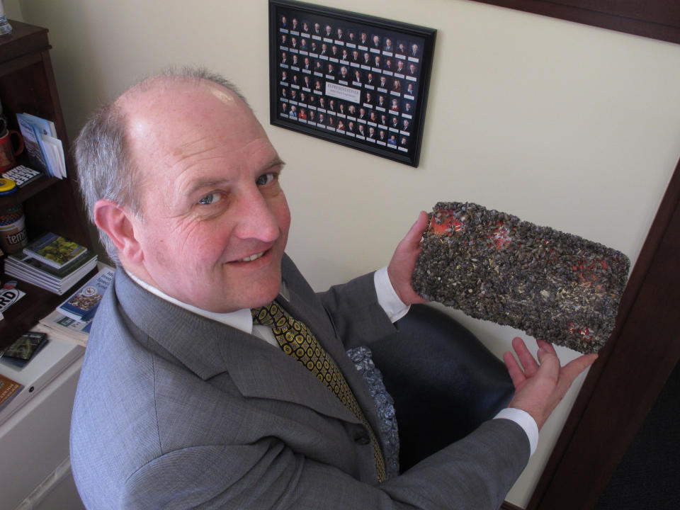
[[435,39],[433,28],[269,0],[271,124],[418,166]]

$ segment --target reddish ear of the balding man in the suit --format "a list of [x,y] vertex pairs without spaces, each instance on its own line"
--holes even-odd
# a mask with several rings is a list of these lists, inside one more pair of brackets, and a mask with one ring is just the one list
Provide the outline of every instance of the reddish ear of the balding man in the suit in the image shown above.
[[97,200],[94,205],[94,222],[111,238],[118,252],[132,262],[144,258],[142,246],[135,237],[132,213],[111,200]]

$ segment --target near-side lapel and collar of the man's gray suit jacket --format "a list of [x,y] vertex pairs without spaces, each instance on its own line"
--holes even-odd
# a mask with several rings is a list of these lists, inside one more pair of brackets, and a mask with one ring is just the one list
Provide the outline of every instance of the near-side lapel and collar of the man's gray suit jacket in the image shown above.
[[[173,305],[141,288],[122,269],[116,271],[115,289],[128,319],[142,333],[137,331],[137,339],[145,345],[154,341],[203,380],[228,373],[244,397],[293,402],[358,423],[307,368],[266,341]],[[336,359],[335,353],[331,356]]]

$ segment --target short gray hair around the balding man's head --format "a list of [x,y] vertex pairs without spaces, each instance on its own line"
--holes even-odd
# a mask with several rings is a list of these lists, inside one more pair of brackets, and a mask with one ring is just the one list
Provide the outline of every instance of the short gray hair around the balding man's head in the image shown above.
[[[179,71],[169,69],[147,77],[131,86],[128,91],[143,91],[157,81],[212,81],[229,89],[248,105],[236,86],[225,77],[203,68],[185,67]],[[128,122],[117,101],[101,106],[84,125],[75,141],[75,158],[78,181],[90,221],[94,223],[94,205],[98,200],[112,202],[132,211],[143,219],[140,197],[136,189],[142,174],[135,167],[128,142]],[[118,250],[113,241],[99,229],[99,238],[108,256],[118,263]]]

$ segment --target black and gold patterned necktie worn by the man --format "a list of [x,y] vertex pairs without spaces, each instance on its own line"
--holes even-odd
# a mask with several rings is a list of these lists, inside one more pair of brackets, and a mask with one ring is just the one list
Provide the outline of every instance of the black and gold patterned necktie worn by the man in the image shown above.
[[324,382],[326,387],[338,397],[340,402],[368,429],[370,442],[373,445],[378,482],[384,482],[386,479],[385,460],[382,458],[378,438],[363,415],[361,407],[359,407],[356,397],[347,384],[344,375],[342,375],[331,356],[319,344],[312,331],[304,323],[290,317],[290,314],[283,310],[276,301],[269,303],[265,307],[251,310],[251,312],[253,314],[253,323],[270,327],[283,352],[295,358],[302,365],[305,365],[318,380]]

